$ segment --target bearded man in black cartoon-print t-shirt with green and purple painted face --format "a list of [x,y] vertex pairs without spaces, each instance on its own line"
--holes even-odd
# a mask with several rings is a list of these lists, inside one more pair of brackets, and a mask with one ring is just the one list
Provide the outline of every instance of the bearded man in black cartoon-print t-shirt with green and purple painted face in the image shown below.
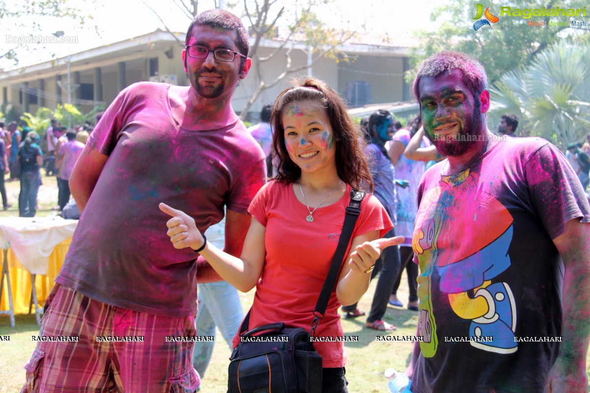
[[412,392],[586,392],[590,206],[548,141],[490,133],[486,82],[457,52],[414,82],[447,159],[418,188]]

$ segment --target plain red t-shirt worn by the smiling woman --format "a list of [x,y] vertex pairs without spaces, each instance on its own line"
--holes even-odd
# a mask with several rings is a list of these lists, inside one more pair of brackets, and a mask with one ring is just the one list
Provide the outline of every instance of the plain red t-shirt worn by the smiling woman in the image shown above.
[[[318,207],[313,213],[313,223],[309,223],[307,207],[297,200],[292,184],[275,180],[260,190],[248,211],[266,227],[266,259],[250,310],[250,329],[275,322],[311,328],[313,309],[332,264],[349,203],[350,186],[336,203]],[[376,197],[366,195],[352,239],[372,230],[379,230],[383,236],[391,228],[391,220],[381,203]],[[346,255],[349,253],[350,249]],[[345,257],[343,263],[348,260]],[[316,336],[343,335],[339,306],[334,290]],[[236,335],[234,346],[239,341]],[[322,355],[323,367],[344,366],[343,342],[314,342],[314,347]]]

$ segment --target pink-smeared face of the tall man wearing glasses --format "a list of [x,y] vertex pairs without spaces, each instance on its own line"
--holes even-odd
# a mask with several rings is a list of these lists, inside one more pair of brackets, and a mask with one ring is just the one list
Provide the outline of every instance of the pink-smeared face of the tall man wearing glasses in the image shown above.
[[[221,28],[213,28],[207,25],[198,25],[192,30],[189,45],[199,45],[210,50],[228,49],[238,52],[235,44],[237,35],[235,31]],[[232,62],[215,60],[213,52],[209,52],[207,58],[196,59],[182,51],[182,61],[185,71],[188,73],[191,86],[196,93],[203,98],[218,98],[222,95],[231,95],[240,79],[248,73],[249,62],[244,62],[240,56]]]

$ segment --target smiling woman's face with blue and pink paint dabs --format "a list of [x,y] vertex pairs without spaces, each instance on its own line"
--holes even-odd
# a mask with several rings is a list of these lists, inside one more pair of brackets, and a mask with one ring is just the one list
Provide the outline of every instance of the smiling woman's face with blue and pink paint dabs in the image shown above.
[[326,110],[316,101],[287,105],[282,114],[285,147],[304,172],[336,170],[336,145]]

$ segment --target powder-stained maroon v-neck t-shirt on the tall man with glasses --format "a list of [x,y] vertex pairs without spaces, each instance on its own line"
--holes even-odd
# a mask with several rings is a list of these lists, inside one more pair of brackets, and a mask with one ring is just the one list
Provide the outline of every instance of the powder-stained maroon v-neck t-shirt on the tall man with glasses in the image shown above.
[[170,85],[123,90],[88,143],[109,158],[80,217],[56,282],[122,308],[156,315],[196,312],[192,249],[176,250],[160,202],[205,232],[223,207],[247,214],[264,184],[260,146],[240,120],[189,130],[172,117]]

